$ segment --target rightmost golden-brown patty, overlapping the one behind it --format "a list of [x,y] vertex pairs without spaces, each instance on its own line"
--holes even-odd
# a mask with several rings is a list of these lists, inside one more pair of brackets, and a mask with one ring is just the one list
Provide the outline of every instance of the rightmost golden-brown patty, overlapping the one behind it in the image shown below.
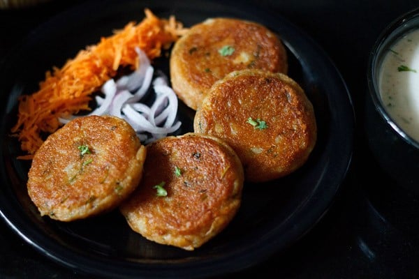
[[317,134],[303,89],[287,75],[261,70],[235,71],[216,82],[196,112],[194,131],[226,141],[253,182],[301,167]]

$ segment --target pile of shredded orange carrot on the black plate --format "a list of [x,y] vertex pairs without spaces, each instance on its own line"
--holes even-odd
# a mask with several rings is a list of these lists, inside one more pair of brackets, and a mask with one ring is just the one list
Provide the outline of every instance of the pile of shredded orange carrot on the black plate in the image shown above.
[[81,50],[62,68],[55,67],[52,73],[47,71],[39,91],[19,99],[18,119],[11,132],[28,155],[18,158],[33,158],[43,144],[41,135],[54,133],[61,126],[60,117],[91,110],[91,94],[115,77],[119,67],[138,68],[135,47],[140,47],[149,59],[154,59],[184,31],[186,29],[175,17],[161,19],[146,8],[145,18],[139,24],[126,24],[112,36],[101,38],[97,45]]

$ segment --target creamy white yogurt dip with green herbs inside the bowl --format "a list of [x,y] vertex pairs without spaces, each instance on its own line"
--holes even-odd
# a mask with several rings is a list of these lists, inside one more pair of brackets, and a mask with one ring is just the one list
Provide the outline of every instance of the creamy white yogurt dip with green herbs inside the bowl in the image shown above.
[[419,29],[390,47],[378,85],[385,110],[404,133],[419,142]]

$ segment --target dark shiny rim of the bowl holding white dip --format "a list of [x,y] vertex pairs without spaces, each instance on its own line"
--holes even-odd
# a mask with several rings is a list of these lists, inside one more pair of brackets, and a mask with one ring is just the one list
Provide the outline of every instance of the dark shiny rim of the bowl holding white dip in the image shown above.
[[[416,24],[413,24],[413,26],[408,24],[414,20],[417,21]],[[407,144],[419,149],[419,141],[413,139],[413,137],[404,132],[387,110],[385,110],[385,105],[383,104],[378,89],[378,74],[381,66],[380,59],[388,52],[385,50],[385,46],[395,43],[402,35],[416,29],[419,29],[419,7],[400,15],[381,31],[372,47],[372,51],[369,53],[367,83],[369,94],[372,97],[374,107],[378,114],[380,114],[385,122],[387,122],[391,128],[395,130],[397,135],[402,137]]]

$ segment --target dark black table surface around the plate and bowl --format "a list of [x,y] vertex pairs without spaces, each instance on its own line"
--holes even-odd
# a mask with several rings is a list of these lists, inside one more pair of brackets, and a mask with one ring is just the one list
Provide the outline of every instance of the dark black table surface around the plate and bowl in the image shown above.
[[[0,59],[39,24],[80,0],[0,10]],[[253,1],[323,47],[344,78],[356,115],[351,169],[334,204],[293,247],[229,278],[419,278],[419,196],[380,167],[366,133],[367,60],[381,30],[417,0]],[[1,78],[1,77],[0,77]],[[374,144],[374,142],[372,142]],[[273,275],[273,276],[270,276]],[[41,255],[0,221],[0,278],[91,278]]]

